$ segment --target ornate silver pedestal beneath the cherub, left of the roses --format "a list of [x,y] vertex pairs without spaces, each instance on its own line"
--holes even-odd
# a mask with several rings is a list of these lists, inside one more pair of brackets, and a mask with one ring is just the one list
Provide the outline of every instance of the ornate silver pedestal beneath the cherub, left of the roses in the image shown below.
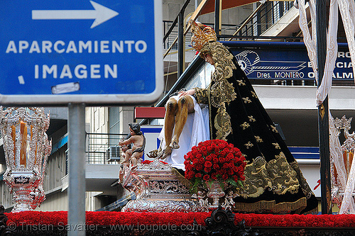
[[192,199],[187,186],[172,172],[170,164],[154,159],[137,168],[124,166],[122,186],[136,193],[136,200],[124,206],[125,212],[198,212],[199,201]]

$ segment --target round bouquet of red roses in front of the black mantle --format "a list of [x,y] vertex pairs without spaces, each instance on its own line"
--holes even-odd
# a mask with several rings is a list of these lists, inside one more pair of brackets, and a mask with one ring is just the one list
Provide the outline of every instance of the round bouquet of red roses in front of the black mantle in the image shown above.
[[241,151],[224,140],[207,140],[185,154],[185,178],[192,181],[192,191],[218,181],[222,189],[242,186],[245,179],[245,157]]

